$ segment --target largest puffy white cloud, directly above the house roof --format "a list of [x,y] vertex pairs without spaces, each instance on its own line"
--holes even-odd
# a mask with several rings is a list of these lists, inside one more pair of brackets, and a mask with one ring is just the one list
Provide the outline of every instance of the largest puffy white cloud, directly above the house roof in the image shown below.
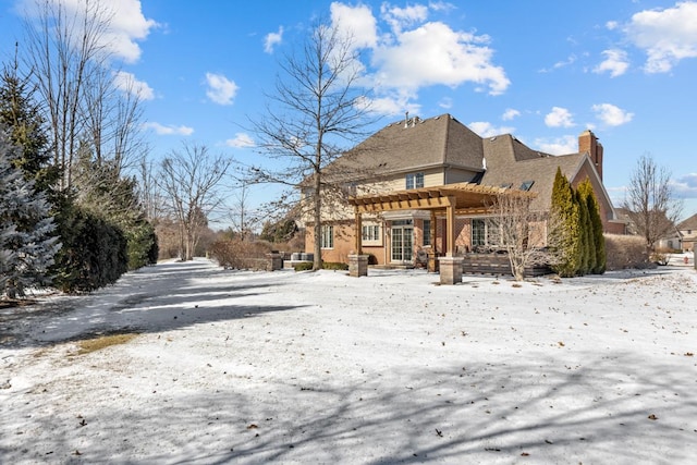
[[367,58],[359,66],[360,83],[375,90],[372,111],[401,114],[418,107],[411,102],[429,86],[474,83],[475,90],[490,95],[508,89],[511,82],[503,68],[493,63],[488,36],[427,22],[429,12],[454,8],[443,1],[404,8],[383,3],[379,22],[366,4],[331,3],[332,26],[350,35]]

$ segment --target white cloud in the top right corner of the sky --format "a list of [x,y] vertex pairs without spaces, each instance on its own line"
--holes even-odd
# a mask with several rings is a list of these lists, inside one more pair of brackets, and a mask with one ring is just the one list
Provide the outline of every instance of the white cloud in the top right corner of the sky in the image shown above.
[[632,16],[624,33],[646,51],[647,73],[667,73],[681,60],[697,57],[697,2],[640,11]]

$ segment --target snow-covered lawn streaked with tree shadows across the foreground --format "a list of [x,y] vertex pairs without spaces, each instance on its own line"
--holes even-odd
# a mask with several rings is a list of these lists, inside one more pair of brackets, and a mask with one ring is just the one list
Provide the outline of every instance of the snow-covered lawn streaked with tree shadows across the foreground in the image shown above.
[[0,463],[697,462],[694,269],[437,282],[197,260],[4,311]]

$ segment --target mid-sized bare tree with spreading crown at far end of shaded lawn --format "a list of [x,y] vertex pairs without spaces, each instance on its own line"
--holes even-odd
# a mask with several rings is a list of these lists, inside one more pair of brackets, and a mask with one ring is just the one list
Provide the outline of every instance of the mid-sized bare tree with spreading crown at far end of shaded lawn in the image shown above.
[[164,206],[180,223],[182,259],[194,258],[200,230],[207,225],[208,215],[222,201],[216,187],[231,163],[231,158],[212,156],[204,145],[187,143],[162,160],[158,183],[164,194]]

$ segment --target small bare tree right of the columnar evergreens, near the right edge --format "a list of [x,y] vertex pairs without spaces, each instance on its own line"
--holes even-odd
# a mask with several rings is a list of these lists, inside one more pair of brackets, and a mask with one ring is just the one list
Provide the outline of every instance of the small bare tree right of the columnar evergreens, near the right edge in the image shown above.
[[622,206],[649,252],[656,242],[675,230],[682,211],[682,201],[671,187],[671,173],[657,166],[649,155],[637,161]]

